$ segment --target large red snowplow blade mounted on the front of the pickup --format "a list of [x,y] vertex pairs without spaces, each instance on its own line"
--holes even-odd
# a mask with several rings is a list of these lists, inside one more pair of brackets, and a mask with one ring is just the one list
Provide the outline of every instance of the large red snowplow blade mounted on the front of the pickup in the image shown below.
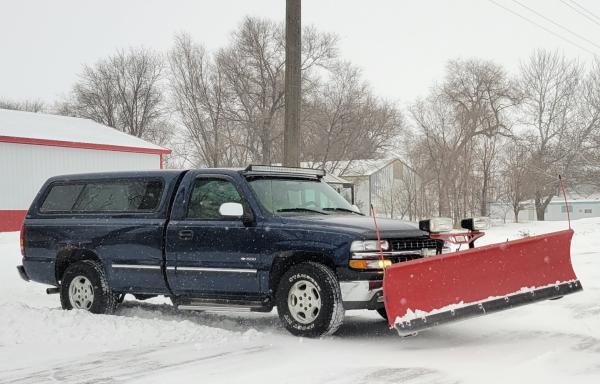
[[385,271],[390,327],[407,335],[580,291],[573,230],[398,263]]

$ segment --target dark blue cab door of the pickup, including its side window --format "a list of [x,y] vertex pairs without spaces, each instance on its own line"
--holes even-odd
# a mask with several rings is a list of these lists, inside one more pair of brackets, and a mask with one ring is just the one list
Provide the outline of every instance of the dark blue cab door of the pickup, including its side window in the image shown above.
[[259,294],[257,229],[241,218],[223,217],[223,203],[250,209],[234,180],[198,175],[188,192],[184,217],[167,229],[169,284],[175,294],[252,296]]

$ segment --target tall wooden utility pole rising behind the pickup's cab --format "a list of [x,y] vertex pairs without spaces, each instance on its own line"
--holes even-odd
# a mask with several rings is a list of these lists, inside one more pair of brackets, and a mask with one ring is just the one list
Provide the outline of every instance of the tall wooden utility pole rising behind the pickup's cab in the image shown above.
[[283,165],[300,166],[300,0],[286,0],[285,6],[285,128]]

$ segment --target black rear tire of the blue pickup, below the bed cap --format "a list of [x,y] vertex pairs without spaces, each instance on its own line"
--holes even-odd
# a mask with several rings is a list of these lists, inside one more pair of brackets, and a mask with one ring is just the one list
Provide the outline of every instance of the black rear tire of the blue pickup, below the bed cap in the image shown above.
[[[78,279],[78,280],[77,280]],[[85,309],[92,313],[113,313],[117,307],[117,295],[114,294],[106,280],[106,274],[102,265],[93,260],[83,260],[73,263],[67,267],[63,274],[60,284],[60,304],[63,309],[73,309],[73,304],[69,297],[71,283],[76,280],[76,284],[88,284],[91,288],[91,299],[79,301],[81,296],[74,293],[74,301],[79,305],[79,309]],[[76,287],[75,287],[76,288]],[[86,291],[89,293],[89,291]],[[85,305],[87,304],[87,305]]]

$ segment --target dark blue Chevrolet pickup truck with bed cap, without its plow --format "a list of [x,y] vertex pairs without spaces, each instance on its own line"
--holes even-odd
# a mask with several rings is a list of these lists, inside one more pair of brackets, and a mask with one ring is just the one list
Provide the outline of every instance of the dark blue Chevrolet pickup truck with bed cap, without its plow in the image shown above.
[[443,241],[379,219],[378,242],[373,219],[323,176],[249,166],[53,177],[27,213],[17,269],[53,286],[64,309],[93,313],[125,294],[188,310],[277,307],[286,329],[308,337],[335,332],[345,310],[385,317],[383,268]]

